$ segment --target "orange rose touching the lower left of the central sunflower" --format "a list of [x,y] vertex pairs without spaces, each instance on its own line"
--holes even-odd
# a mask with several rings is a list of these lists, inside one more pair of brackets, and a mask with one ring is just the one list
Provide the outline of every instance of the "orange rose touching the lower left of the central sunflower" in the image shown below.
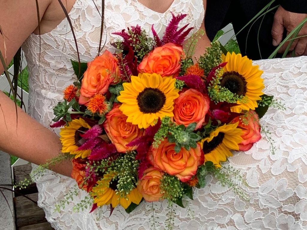
[[114,104],[113,109],[107,113],[103,126],[118,152],[132,151],[137,147],[127,147],[126,144],[143,136],[144,130],[138,128],[137,125],[126,122],[127,116],[119,110],[119,106],[119,104]]

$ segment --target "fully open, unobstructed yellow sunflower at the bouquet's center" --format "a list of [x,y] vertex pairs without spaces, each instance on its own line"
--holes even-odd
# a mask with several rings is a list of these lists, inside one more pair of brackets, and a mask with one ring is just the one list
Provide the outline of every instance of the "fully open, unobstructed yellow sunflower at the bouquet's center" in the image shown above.
[[131,83],[123,83],[124,90],[117,97],[127,122],[147,128],[159,117],[173,117],[174,100],[179,97],[175,82],[172,77],[162,78],[155,73],[131,76]]

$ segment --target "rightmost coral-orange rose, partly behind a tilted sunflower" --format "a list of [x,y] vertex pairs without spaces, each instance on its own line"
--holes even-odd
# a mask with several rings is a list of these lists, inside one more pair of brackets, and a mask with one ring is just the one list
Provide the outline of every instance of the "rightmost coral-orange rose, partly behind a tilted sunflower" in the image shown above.
[[[241,151],[247,151],[261,138],[258,115],[254,110],[249,110],[245,115],[233,119],[231,123],[238,121],[238,128],[243,129],[243,134],[241,135],[243,141],[239,144],[239,149]],[[242,121],[248,121],[248,124],[246,125]]]

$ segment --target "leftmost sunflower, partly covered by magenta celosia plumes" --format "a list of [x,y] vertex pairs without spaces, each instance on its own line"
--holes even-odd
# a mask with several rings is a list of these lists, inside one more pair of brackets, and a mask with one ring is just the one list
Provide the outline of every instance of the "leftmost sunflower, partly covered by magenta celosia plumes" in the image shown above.
[[74,119],[68,122],[68,125],[65,125],[64,128],[61,128],[60,140],[62,143],[62,152],[69,152],[71,155],[75,155],[75,158],[82,157],[85,158],[91,154],[91,150],[80,150],[76,151],[83,142],[81,133],[90,129],[89,126],[83,119]]

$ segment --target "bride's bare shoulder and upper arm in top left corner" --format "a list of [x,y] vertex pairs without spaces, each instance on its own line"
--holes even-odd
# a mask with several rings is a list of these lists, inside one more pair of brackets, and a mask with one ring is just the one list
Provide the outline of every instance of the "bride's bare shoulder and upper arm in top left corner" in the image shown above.
[[[70,11],[76,0],[60,0]],[[36,5],[38,3],[38,7]],[[38,14],[41,34],[51,31],[65,14],[59,0],[0,0],[0,51],[10,63],[21,44],[31,33],[38,33]],[[0,65],[0,73],[3,67]]]

